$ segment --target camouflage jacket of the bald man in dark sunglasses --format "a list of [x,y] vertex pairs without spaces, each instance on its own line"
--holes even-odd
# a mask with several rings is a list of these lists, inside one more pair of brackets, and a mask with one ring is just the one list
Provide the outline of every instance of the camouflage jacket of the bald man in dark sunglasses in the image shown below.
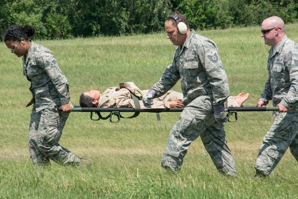
[[261,101],[272,99],[274,107],[281,103],[290,109],[298,110],[298,44],[284,36],[274,48],[270,48],[267,63],[269,72]]

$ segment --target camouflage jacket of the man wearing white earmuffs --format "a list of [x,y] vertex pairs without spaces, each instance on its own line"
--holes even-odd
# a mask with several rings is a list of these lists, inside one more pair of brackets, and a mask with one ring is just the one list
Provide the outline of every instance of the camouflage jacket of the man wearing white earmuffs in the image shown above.
[[176,48],[173,63],[151,89],[159,97],[170,90],[179,78],[184,105],[200,96],[208,96],[210,103],[204,108],[211,110],[212,104],[222,104],[230,95],[228,78],[216,44],[211,39],[195,34],[194,30],[187,36],[184,45]]

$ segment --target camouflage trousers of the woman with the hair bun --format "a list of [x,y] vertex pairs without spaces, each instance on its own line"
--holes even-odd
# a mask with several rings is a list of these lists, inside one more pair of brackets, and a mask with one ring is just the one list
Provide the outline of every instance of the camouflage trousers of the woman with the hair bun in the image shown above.
[[69,116],[58,112],[58,107],[45,108],[40,112],[35,112],[34,107],[32,109],[28,144],[35,168],[49,165],[50,159],[63,165],[80,163],[80,158],[58,144]]

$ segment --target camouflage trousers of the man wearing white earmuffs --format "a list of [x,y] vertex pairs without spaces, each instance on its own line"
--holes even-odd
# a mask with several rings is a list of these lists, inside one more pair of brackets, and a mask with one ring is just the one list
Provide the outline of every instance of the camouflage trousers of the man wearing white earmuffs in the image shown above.
[[237,176],[231,151],[226,144],[224,125],[215,121],[214,112],[198,107],[184,107],[167,140],[162,167],[178,172],[190,143],[199,136],[217,170],[224,175]]

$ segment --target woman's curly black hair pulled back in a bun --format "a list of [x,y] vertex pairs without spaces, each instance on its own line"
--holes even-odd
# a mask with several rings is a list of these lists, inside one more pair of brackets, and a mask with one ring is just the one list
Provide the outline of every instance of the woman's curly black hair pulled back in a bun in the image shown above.
[[10,26],[4,35],[5,41],[20,41],[21,38],[24,38],[25,41],[28,41],[28,38],[35,34],[34,27],[30,25],[25,25],[21,27],[19,25]]

